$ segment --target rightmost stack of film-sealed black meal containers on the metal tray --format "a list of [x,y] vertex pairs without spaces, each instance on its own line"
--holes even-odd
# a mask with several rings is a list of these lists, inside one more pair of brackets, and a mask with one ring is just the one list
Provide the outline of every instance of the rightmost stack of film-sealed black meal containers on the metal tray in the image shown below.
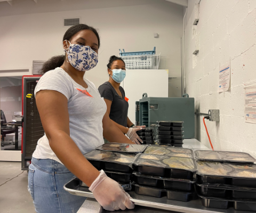
[[203,206],[256,211],[256,160],[250,154],[197,150],[195,157],[196,191]]

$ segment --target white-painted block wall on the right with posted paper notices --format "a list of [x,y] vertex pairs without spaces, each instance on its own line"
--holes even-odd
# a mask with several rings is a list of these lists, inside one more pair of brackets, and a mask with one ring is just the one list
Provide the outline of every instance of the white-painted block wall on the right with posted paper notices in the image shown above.
[[[193,11],[195,0],[189,0]],[[194,3],[193,3],[194,2]],[[186,87],[195,97],[196,109],[220,110],[220,122],[206,121],[215,149],[245,151],[256,155],[256,125],[244,121],[244,86],[256,83],[256,1],[201,0],[197,39],[199,54],[193,69],[193,12],[187,17]],[[218,93],[219,66],[231,60],[231,88]],[[197,138],[210,148],[201,118]]]

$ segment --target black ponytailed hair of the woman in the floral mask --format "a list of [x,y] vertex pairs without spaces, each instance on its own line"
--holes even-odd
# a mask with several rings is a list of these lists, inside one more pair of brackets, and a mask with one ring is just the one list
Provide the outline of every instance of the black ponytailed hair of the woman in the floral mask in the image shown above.
[[[77,32],[81,31],[81,30],[91,30],[94,32],[94,34],[97,36],[98,38],[98,44],[100,47],[100,36],[98,34],[98,31],[96,29],[94,29],[93,27],[90,27],[86,24],[76,24],[72,27],[70,27],[64,34],[62,41],[64,40],[70,40],[72,36],[74,36],[75,34],[77,34]],[[44,64],[43,67],[41,69],[41,73],[44,74],[47,71],[50,70],[54,70],[57,67],[61,67],[61,65],[64,63],[66,58],[66,55],[57,55],[57,56],[53,56],[51,59],[47,60]]]

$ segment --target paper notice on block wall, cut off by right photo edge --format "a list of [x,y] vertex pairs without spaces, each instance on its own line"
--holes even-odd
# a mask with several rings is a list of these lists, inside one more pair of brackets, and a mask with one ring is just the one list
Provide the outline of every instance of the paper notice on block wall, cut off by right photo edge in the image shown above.
[[245,87],[245,122],[256,124],[256,86]]

